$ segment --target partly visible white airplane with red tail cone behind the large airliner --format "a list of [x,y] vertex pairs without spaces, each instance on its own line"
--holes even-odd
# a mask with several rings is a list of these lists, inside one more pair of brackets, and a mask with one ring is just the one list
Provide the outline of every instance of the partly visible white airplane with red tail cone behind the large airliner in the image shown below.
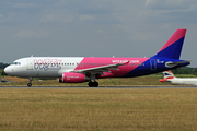
[[160,79],[160,82],[179,85],[197,85],[197,78],[176,78],[169,70],[163,72],[163,79]]

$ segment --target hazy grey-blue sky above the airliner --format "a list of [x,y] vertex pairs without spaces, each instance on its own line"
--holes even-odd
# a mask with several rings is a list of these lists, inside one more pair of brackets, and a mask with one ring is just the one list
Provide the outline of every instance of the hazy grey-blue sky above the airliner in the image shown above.
[[196,0],[1,0],[0,61],[151,57],[187,28],[181,59],[197,68],[196,14]]

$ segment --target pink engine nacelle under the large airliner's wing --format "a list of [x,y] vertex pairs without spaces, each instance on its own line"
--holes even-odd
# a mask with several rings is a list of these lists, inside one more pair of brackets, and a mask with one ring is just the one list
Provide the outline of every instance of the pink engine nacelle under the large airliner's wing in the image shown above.
[[60,83],[82,83],[88,82],[90,79],[82,73],[65,72],[62,78],[59,78]]

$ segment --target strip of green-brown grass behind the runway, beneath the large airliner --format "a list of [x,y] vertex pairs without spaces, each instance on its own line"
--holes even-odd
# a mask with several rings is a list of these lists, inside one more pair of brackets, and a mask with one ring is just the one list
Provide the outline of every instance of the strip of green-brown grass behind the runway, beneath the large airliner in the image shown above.
[[[195,75],[177,75],[178,78],[195,78]],[[143,85],[169,85],[166,83],[159,82],[162,79],[160,75],[147,75],[139,78],[123,78],[123,79],[101,79],[97,82],[100,86],[143,86]],[[28,80],[23,82],[12,82],[12,83],[0,83],[0,86],[26,86]],[[88,86],[88,83],[58,83],[58,80],[44,80],[38,81],[37,79],[32,82],[33,86]]]

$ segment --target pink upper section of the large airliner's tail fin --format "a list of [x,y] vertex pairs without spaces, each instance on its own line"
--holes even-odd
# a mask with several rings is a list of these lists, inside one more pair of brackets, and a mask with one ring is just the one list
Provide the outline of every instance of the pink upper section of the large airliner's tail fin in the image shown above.
[[[177,29],[172,36],[171,38],[165,43],[165,45],[160,49],[160,51],[162,51],[163,49],[165,49],[166,47],[171,46],[172,44],[174,44],[175,41],[177,41],[178,39],[181,39],[182,37],[185,36],[186,29]],[[160,52],[159,51],[159,52]]]

